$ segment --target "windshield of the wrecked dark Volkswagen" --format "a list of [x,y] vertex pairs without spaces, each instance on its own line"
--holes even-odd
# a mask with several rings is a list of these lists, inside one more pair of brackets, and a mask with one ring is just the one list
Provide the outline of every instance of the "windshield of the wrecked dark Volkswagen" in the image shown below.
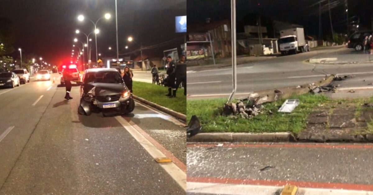
[[123,79],[120,77],[119,72],[100,71],[87,73],[87,75],[85,75],[84,82],[123,83]]

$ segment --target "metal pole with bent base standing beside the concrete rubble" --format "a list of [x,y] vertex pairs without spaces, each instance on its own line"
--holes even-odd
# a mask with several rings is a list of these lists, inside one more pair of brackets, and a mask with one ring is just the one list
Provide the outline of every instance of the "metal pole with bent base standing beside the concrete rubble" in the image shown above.
[[[232,28],[232,84],[233,90],[231,95],[229,95],[228,102],[233,98],[237,90],[237,61],[236,61],[236,0],[231,0],[231,28]],[[227,103],[228,103],[227,102]]]

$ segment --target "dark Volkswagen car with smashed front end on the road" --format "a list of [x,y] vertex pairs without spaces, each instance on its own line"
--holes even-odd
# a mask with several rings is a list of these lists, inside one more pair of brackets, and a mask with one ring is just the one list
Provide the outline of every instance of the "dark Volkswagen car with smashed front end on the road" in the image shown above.
[[78,85],[81,86],[79,114],[89,116],[92,112],[102,112],[103,116],[116,116],[135,109],[132,94],[114,68],[88,69]]

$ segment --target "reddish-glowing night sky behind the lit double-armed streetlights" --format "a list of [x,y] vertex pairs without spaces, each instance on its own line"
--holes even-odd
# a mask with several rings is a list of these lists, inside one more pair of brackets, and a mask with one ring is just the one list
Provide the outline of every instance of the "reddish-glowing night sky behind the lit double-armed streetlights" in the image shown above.
[[[180,36],[174,30],[174,16],[186,14],[186,0],[117,0],[117,3],[120,52],[125,45],[130,47],[128,51],[138,47],[126,42],[130,35],[143,45]],[[73,38],[86,40],[84,35],[75,34],[76,29],[87,34],[94,30],[90,21],[79,22],[77,16],[84,14],[95,22],[107,12],[112,18],[101,19],[97,24],[98,53],[115,55],[115,51],[107,49],[116,48],[115,0],[0,0],[0,17],[10,19],[15,28],[14,48],[21,47],[22,55],[32,53],[55,64],[70,60]],[[94,53],[92,50],[92,59]]]

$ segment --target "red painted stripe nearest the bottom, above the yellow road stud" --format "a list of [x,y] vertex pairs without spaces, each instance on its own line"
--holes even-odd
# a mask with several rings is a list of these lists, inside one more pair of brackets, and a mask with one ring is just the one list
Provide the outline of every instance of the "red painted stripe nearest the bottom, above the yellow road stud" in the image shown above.
[[373,185],[354,184],[354,183],[320,183],[303,181],[276,181],[276,180],[255,180],[255,179],[233,179],[233,178],[205,178],[205,177],[187,177],[187,182],[200,183],[224,183],[240,185],[264,185],[264,186],[284,186],[295,185],[298,188],[323,188],[323,189],[346,189],[372,191]]

